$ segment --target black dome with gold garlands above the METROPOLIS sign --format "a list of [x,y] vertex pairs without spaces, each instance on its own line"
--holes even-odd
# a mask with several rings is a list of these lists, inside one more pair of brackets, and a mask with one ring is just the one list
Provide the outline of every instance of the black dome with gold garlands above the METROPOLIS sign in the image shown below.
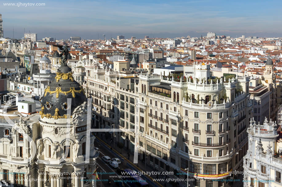
[[71,115],[76,107],[87,101],[82,86],[73,79],[70,67],[63,63],[56,74],[41,99],[41,118],[67,118],[68,98],[71,98]]

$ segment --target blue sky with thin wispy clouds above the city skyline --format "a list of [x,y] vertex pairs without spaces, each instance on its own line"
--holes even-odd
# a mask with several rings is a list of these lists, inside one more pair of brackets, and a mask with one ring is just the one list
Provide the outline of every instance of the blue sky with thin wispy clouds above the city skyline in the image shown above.
[[[45,6],[4,6],[3,3],[45,3]],[[24,28],[38,38],[97,39],[125,35],[282,37],[282,1],[11,1],[0,0],[4,37],[23,37]]]

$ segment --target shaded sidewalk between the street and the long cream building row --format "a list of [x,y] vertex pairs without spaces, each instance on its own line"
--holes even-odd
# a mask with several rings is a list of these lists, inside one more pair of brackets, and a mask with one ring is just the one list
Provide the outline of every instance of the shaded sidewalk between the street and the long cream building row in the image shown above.
[[[137,168],[139,168],[139,170],[142,170],[142,171],[158,171],[158,170],[155,170],[154,168],[152,168],[149,164],[147,164],[146,166],[146,169],[145,169],[145,162],[140,160],[140,158],[138,157],[138,164],[133,164],[133,153],[129,152],[130,153],[130,158],[128,158],[128,150],[126,149],[126,147],[120,149],[117,147],[117,142],[115,144],[115,148],[114,148],[114,144],[113,142],[111,143],[111,138],[108,138],[106,139],[105,138],[105,135],[103,134],[103,136],[101,137],[101,134],[99,133],[99,136],[96,136],[98,137],[100,140],[104,141],[106,144],[108,144],[109,148],[112,148],[112,151],[116,151],[116,153],[118,153],[119,155],[121,155],[121,157],[123,157],[124,159],[124,165],[126,165],[126,163],[130,164],[131,166],[135,166]],[[138,155],[139,156],[139,155]],[[155,178],[160,178],[162,176],[157,176],[157,175],[151,175],[151,176],[148,176],[148,178],[151,179],[151,181],[153,181],[153,179]],[[155,183],[159,183],[157,184],[158,186],[163,186],[163,187],[172,187],[172,185],[170,185],[168,182],[155,182]]]

